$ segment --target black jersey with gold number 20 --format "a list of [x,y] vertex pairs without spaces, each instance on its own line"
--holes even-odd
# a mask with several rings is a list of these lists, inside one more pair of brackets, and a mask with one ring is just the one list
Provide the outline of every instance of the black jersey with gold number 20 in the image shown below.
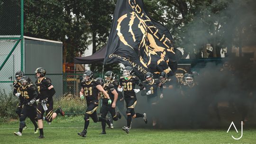
[[124,77],[121,77],[119,80],[119,85],[123,86],[124,90],[124,97],[125,98],[136,98],[136,94],[134,92],[135,85],[139,85],[140,80],[137,76],[130,76],[128,80],[126,80]]

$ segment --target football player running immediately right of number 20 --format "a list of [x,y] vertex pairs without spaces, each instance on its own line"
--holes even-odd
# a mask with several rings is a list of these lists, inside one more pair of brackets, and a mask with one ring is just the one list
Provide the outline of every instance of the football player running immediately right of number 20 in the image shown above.
[[[143,85],[145,86],[144,90],[142,90],[141,95],[147,96],[147,104],[148,104],[148,110],[150,112],[153,112],[153,110],[156,110],[156,105],[158,103],[158,94],[157,89],[160,87],[161,94],[160,99],[163,98],[163,86],[161,86],[161,82],[159,79],[153,79],[153,74],[151,72],[146,72],[145,74],[146,81],[143,81]],[[153,114],[155,115],[155,114]],[[153,126],[156,125],[156,118],[153,117]]]

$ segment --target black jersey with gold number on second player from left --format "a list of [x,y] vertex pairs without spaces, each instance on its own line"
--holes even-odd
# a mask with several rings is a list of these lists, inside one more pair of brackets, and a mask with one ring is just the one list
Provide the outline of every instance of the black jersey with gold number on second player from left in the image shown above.
[[27,86],[19,87],[21,98],[23,99],[23,105],[27,104],[31,99],[37,98],[37,88],[34,84],[28,84]]

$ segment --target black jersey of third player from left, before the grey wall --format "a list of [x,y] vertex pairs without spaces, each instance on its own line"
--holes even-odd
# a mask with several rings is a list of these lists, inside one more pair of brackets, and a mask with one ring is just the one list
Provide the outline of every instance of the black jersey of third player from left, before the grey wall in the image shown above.
[[[37,79],[36,81],[36,86],[37,86],[37,90],[38,90],[38,96],[39,99],[46,99],[49,97],[49,90],[48,88],[52,85],[52,81],[49,78],[44,78],[42,81],[39,81],[39,79]],[[48,99],[52,99],[48,98]]]

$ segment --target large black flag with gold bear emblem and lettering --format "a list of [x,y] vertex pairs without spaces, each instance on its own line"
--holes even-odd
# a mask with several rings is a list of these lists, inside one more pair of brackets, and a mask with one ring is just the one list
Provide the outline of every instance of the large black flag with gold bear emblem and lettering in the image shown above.
[[[143,0],[117,0],[104,64],[123,63],[137,76],[177,69],[169,30],[147,14]],[[177,53],[177,52],[176,52]]]

